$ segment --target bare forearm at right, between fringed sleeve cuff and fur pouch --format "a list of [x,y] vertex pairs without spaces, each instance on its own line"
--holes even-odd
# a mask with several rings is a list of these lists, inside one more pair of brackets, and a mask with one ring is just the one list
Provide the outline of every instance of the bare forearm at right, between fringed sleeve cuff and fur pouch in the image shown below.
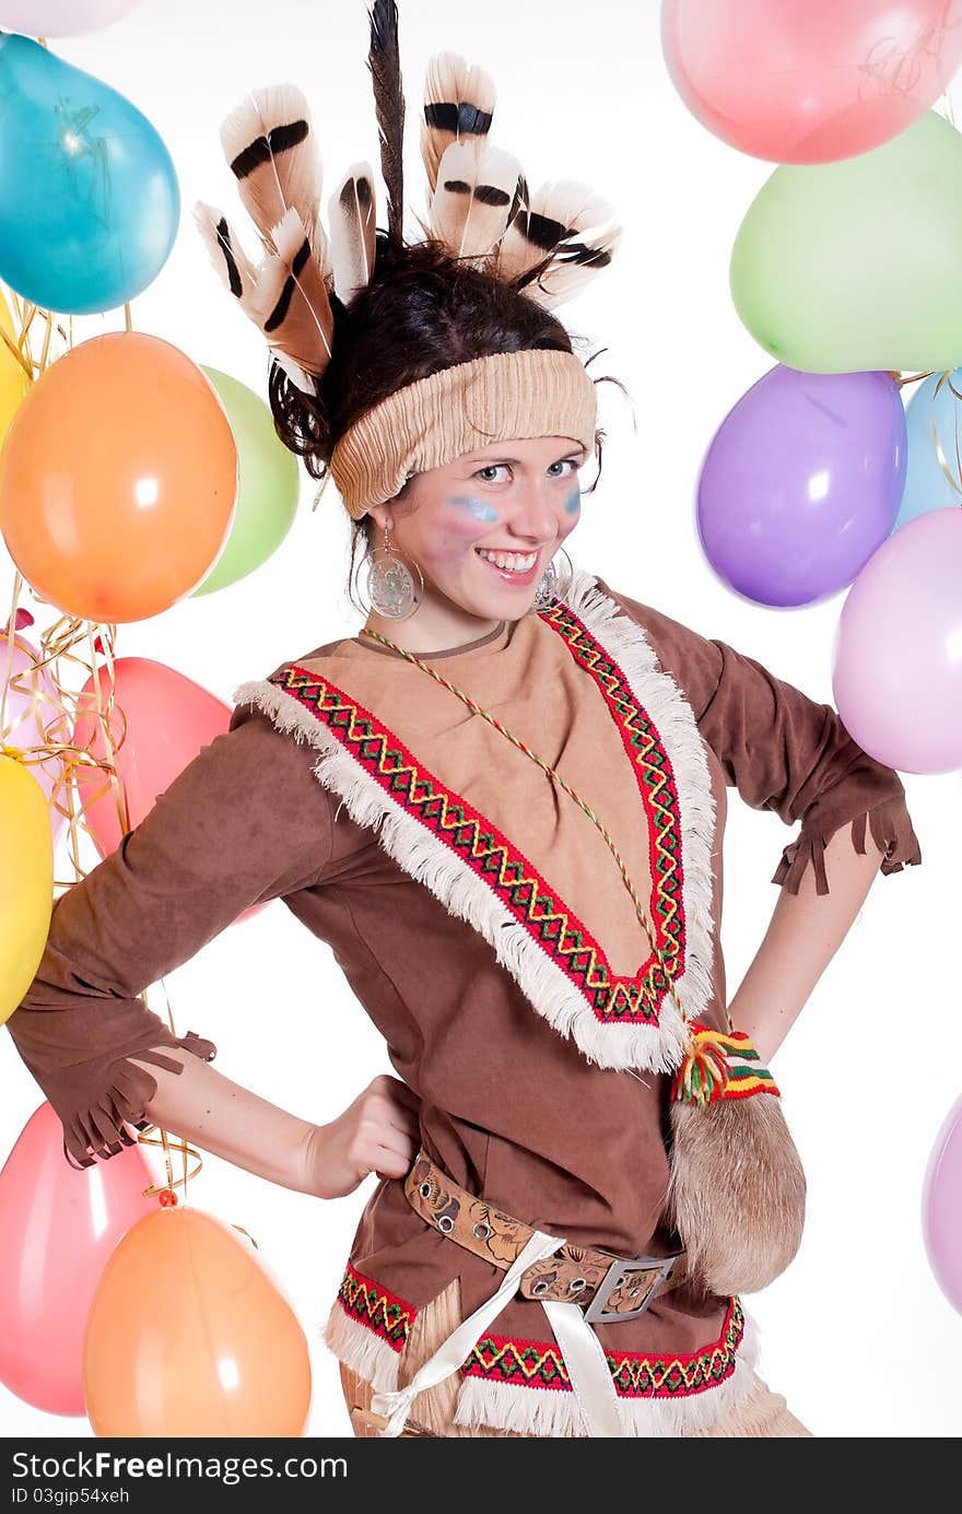
[[815,892],[809,868],[798,893],[782,890],[765,939],[729,1004],[736,1030],[745,1031],[768,1061],[782,1045],[812,989],[845,939],[882,864],[867,831],[865,855],[842,825],[826,846],[830,893]]

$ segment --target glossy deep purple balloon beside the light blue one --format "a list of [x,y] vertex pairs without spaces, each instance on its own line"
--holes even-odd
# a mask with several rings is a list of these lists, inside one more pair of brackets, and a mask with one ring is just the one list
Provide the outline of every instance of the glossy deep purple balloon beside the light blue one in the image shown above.
[[892,530],[904,436],[888,374],[770,369],[701,465],[697,519],[712,568],[759,604],[838,593]]

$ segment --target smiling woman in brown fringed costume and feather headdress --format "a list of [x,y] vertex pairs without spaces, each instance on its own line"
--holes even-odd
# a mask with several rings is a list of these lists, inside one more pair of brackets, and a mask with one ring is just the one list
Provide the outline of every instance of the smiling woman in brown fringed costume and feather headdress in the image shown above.
[[[394,20],[374,8],[371,62],[397,123]],[[491,101],[459,61],[432,70],[436,229],[465,183],[441,133],[483,139]],[[309,144],[291,97],[265,123],[268,103],[229,150],[261,215],[250,180],[268,162],[289,186]],[[498,164],[468,145],[473,198],[497,203]],[[756,1378],[738,1296],[801,1232],[767,1063],[879,868],[920,861],[904,792],[753,659],[561,572],[597,416],[548,304],[614,238],[551,232],[524,186],[494,257],[404,244],[400,157],[388,132],[376,245],[367,174],[350,226],[332,201],[330,300],[309,209],[288,250],[273,238],[261,279],[297,268],[273,304],[209,223],[271,341],[279,431],[365,544],[367,622],[236,690],[229,733],[56,902],[11,1034],[80,1164],[155,1120],[323,1198],[379,1175],[326,1331],[356,1434],[807,1435]],[[801,822],[730,1002],[727,786]],[[230,1083],[136,998],[270,898],[332,945],[398,1075],[329,1125]]]

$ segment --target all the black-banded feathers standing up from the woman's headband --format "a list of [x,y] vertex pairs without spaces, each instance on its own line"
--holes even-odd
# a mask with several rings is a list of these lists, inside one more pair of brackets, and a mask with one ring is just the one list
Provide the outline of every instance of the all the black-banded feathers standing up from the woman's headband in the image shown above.
[[[401,247],[404,95],[395,0],[370,12],[368,68],[386,191],[385,241]],[[547,307],[571,298],[607,266],[621,236],[612,207],[586,185],[561,179],[529,191],[520,162],[489,141],[494,83],[456,53],[429,65],[421,117],[427,176],[424,236]],[[305,394],[330,362],[335,310],[370,282],[377,200],[370,164],[348,168],[321,224],[321,154],[311,111],[295,85],[255,89],[221,126],[224,156],[253,220],[255,263],[214,206],[194,217],[224,288],[259,327],[271,357]]]

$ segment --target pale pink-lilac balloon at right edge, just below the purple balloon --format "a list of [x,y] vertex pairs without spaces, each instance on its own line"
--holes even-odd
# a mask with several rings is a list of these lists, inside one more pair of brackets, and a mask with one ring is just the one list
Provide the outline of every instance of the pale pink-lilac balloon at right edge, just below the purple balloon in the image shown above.
[[962,510],[883,542],[842,607],[833,693],[845,730],[903,772],[962,768]]

